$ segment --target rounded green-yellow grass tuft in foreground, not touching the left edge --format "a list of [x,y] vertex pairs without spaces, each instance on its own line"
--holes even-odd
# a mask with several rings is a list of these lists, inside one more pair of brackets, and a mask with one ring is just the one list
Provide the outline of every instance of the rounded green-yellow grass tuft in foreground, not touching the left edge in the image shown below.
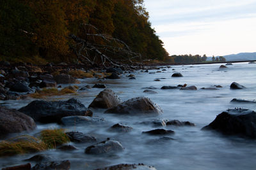
[[44,141],[48,148],[56,148],[56,146],[70,141],[64,129],[46,129],[41,131],[40,139]]

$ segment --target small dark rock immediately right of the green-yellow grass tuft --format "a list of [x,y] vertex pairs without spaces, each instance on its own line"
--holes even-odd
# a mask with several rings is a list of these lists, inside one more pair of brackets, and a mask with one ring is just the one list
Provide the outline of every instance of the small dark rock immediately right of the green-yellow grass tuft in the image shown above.
[[66,132],[66,134],[72,142],[88,143],[97,141],[97,139],[93,136],[86,136],[82,132]]

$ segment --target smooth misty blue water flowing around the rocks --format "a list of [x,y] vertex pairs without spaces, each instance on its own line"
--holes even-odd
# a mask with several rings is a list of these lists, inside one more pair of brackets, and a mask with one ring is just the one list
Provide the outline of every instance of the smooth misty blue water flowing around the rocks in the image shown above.
[[[61,152],[48,150],[46,152],[56,160],[68,159],[71,169],[94,169],[97,167],[110,166],[121,163],[143,163],[155,166],[157,169],[256,169],[256,143],[248,139],[236,137],[226,138],[220,134],[200,131],[208,125],[216,115],[228,108],[248,108],[256,110],[256,104],[230,103],[233,98],[256,99],[256,64],[236,63],[228,66],[226,70],[219,70],[220,64],[172,66],[165,68],[162,73],[148,74],[136,71],[136,80],[129,80],[126,75],[120,80],[106,80],[109,89],[118,94],[123,101],[132,97],[145,96],[157,103],[163,114],[157,117],[132,117],[104,114],[104,110],[93,110],[93,115],[102,117],[106,124],[91,125],[86,127],[72,126],[64,127],[67,131],[79,131],[91,134],[102,141],[106,138],[116,139],[122,143],[125,150],[116,155],[86,155],[84,149],[93,143],[72,145],[79,148],[74,152]],[[175,69],[174,71],[172,69]],[[158,70],[150,70],[155,72]],[[181,78],[172,78],[172,73],[180,72]],[[156,78],[161,81],[154,81]],[[81,80],[79,87],[93,85],[98,80]],[[247,87],[243,90],[230,90],[230,84],[236,81]],[[195,85],[198,89],[221,85],[220,90],[161,90],[163,85],[179,84]],[[158,94],[145,94],[143,87],[154,86]],[[79,93],[78,96],[64,96],[57,99],[68,99],[75,97],[85,106],[88,106],[102,89],[90,89]],[[51,99],[49,99],[51,100]],[[20,108],[31,101],[6,101],[4,105],[10,108]],[[189,121],[196,124],[195,127],[168,126],[164,129],[172,129],[175,134],[169,137],[171,141],[159,142],[159,136],[147,136],[142,131],[156,129],[151,125],[140,124],[147,120],[177,119]],[[123,123],[134,128],[127,134],[109,132],[108,128],[116,123]],[[36,134],[45,128],[61,127],[56,124],[38,125]],[[23,159],[28,159],[35,154],[19,155],[15,157],[1,158],[0,167],[25,164]]]

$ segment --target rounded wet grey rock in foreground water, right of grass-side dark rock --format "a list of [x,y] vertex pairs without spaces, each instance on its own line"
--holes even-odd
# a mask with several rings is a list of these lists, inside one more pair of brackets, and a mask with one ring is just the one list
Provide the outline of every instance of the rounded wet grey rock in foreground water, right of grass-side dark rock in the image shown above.
[[123,146],[118,141],[107,140],[102,141],[96,145],[88,146],[84,152],[87,154],[99,155],[102,153],[113,153],[123,150]]

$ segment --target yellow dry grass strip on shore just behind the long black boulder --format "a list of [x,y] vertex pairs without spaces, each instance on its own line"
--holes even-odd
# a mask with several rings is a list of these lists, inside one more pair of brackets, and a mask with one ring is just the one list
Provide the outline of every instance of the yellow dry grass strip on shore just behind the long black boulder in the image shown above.
[[42,98],[45,98],[47,96],[62,96],[62,95],[65,95],[65,94],[76,94],[76,91],[71,90],[71,89],[65,89],[65,88],[61,89],[61,90],[58,90],[56,88],[51,88],[51,89],[44,88],[39,92],[29,94],[29,97],[33,97],[33,98],[36,98],[36,99],[42,99]]

